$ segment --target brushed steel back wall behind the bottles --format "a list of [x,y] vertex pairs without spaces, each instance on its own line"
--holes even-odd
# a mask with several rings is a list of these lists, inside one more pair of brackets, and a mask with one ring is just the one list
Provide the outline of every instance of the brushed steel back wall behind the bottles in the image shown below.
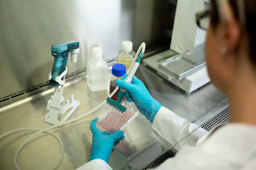
[[80,42],[77,63],[86,67],[91,48],[116,57],[124,40],[147,47],[171,40],[175,0],[2,0],[0,2],[0,99],[48,81],[51,46]]

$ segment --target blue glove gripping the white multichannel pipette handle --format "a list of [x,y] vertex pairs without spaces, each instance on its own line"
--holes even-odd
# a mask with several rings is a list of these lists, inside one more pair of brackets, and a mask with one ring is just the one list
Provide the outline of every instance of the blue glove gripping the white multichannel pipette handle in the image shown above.
[[146,118],[152,123],[156,113],[160,107],[162,107],[162,105],[153,99],[142,81],[133,76],[132,83],[128,83],[124,81],[126,77],[127,75],[122,77],[121,80],[116,80],[116,85],[119,88],[128,90],[128,92],[125,93],[126,100],[129,102],[133,101],[140,113],[145,115]]

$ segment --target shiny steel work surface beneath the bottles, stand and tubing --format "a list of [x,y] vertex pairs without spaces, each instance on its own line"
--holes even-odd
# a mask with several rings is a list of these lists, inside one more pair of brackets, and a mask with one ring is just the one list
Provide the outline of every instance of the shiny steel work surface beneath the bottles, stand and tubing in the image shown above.
[[[158,76],[156,71],[142,64],[135,76],[144,82],[154,99],[189,122],[202,118],[205,113],[209,113],[210,110],[226,101],[226,97],[211,83],[186,95],[184,91]],[[65,100],[70,100],[70,95],[73,94],[74,99],[81,102],[80,107],[70,118],[91,110],[108,95],[107,90],[91,92],[87,86],[85,72],[66,80],[63,92]],[[44,122],[44,116],[48,113],[46,104],[52,93],[53,88],[45,86],[42,90],[28,93],[26,96],[0,105],[0,134],[17,128],[51,126]],[[89,125],[92,119],[100,115],[101,109],[82,120],[52,130],[61,138],[65,149],[64,159],[58,169],[75,169],[88,161],[92,146],[92,133]],[[129,156],[154,140],[150,136],[151,123],[142,114],[139,114],[124,129],[124,132],[125,139],[114,147],[109,158],[109,165],[113,169],[126,167]],[[32,131],[21,132],[0,141],[0,169],[14,169],[13,156],[16,149],[33,133]],[[49,169],[57,162],[59,155],[60,146],[57,140],[50,135],[41,134],[28,142],[21,150],[18,165],[21,169]]]

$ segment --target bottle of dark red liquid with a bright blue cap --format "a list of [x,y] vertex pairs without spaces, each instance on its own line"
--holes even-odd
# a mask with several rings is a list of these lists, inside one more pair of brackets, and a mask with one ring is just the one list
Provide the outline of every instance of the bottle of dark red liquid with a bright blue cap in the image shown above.
[[[124,64],[114,64],[112,66],[112,77],[110,78],[110,85],[109,85],[109,94],[111,94],[115,88],[116,88],[116,80],[120,80],[122,76],[124,76],[126,73],[125,71],[125,65]],[[116,91],[116,93],[111,97],[113,100],[117,100],[118,98],[118,92],[119,89]]]

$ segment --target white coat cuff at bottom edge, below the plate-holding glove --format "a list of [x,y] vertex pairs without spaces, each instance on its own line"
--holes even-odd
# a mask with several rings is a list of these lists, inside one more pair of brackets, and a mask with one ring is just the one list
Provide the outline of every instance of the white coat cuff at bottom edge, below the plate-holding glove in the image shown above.
[[76,170],[112,170],[112,168],[102,159],[93,159]]

